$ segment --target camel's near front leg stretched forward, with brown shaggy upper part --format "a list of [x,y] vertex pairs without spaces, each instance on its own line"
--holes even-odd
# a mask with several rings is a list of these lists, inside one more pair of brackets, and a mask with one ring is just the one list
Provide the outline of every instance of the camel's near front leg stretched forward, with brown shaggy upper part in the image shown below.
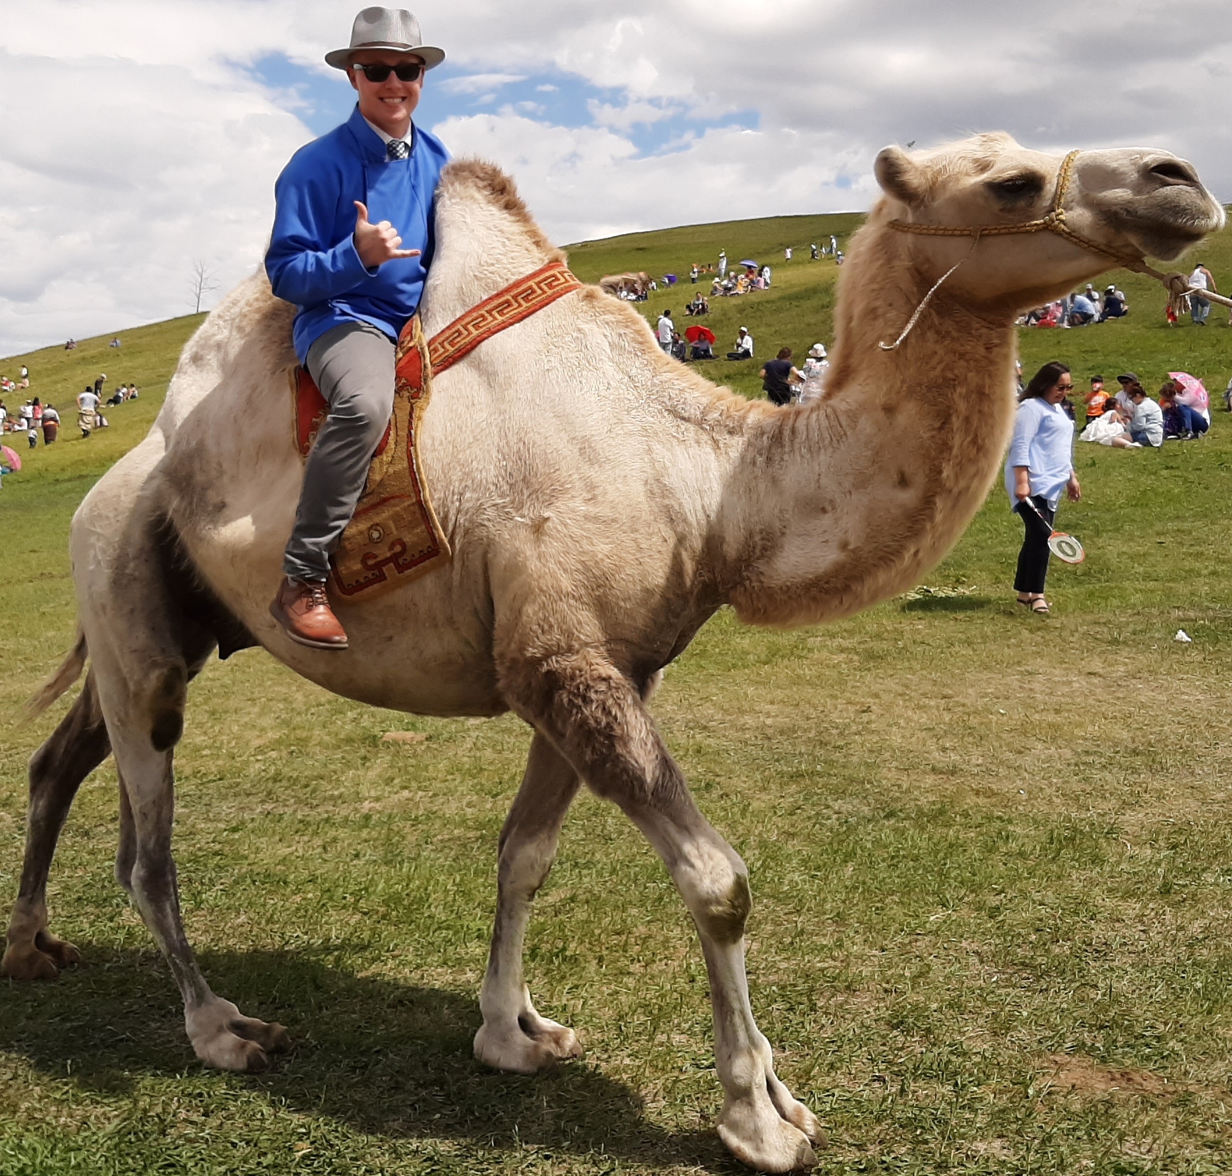
[[710,976],[723,1143],[764,1172],[812,1166],[812,1143],[824,1133],[775,1074],[770,1043],[749,1003],[744,926],[752,897],[744,863],[699,811],[633,683],[614,666],[579,652],[553,659],[520,685],[521,704],[586,784],[646,835],[694,917]]

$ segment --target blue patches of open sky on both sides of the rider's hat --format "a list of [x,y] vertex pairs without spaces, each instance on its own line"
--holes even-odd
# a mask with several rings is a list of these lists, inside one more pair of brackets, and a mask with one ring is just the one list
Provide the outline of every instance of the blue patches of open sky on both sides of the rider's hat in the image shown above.
[[[338,70],[313,69],[274,53],[245,71],[314,134],[351,112],[354,91]],[[553,127],[612,126],[636,148],[633,158],[684,150],[708,129],[760,126],[753,110],[706,116],[670,99],[632,100],[623,89],[598,86],[575,74],[476,73],[448,62],[428,75],[415,121],[432,128],[451,117],[498,111]]]

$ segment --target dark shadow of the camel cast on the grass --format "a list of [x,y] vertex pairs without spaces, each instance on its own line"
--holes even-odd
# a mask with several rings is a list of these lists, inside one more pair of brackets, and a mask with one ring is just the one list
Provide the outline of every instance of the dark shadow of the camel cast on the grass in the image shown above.
[[[171,1079],[200,1064],[180,1003],[153,952],[81,944],[85,964],[53,984],[0,996],[0,1050],[85,1091],[123,1096],[140,1076]],[[479,1065],[478,1002],[442,989],[355,976],[333,950],[202,953],[212,985],[250,1016],[282,1021],[294,1049],[265,1074],[237,1079],[303,1114],[367,1134],[450,1138],[483,1148],[535,1144],[662,1165],[743,1171],[712,1132],[669,1134],[639,1096],[594,1065],[535,1077]]]

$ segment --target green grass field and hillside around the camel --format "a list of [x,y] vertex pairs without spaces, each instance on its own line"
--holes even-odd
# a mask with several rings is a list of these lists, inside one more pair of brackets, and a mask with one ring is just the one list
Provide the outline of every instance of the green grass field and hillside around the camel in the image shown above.
[[[683,272],[718,244],[736,260],[807,245],[796,229],[639,234],[575,248],[573,264],[588,279]],[[1232,234],[1204,254],[1232,275]],[[763,340],[830,341],[833,265],[779,258],[774,290],[716,312],[721,339],[739,316],[763,355]],[[1132,367],[1149,386],[1179,366],[1222,388],[1226,316],[1169,330],[1153,290],[1117,281],[1129,321],[1024,332],[1026,369]],[[68,520],[148,428],[192,325],[126,333],[118,364],[106,339],[30,362],[44,398],[96,370],[144,396],[89,441],[65,414],[64,440],[0,491],[7,894],[25,763],[65,705],[17,719],[71,640]],[[707,372],[754,392],[747,366]],[[1089,555],[1055,568],[1046,623],[1009,602],[1019,530],[994,491],[929,576],[965,594],[790,634],[724,613],[669,668],[655,714],[749,863],[754,1007],[830,1133],[823,1172],[1232,1167],[1228,420],[1161,452],[1079,446],[1085,499],[1061,525]],[[379,741],[397,729],[429,738]],[[185,920],[218,991],[287,1023],[297,1049],[259,1077],[193,1060],[166,968],[111,879],[108,762],[52,875],[53,928],[85,964],[0,982],[0,1172],[740,1171],[712,1132],[694,932],[638,835],[593,798],[565,827],[527,955],[540,1007],[588,1058],[536,1079],[471,1060],[526,746],[511,717],[362,708],[260,651],[209,666],[177,753]]]

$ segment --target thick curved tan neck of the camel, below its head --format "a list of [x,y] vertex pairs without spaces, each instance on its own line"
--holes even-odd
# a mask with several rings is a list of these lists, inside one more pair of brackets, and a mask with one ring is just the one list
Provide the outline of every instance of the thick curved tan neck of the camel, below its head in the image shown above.
[[724,578],[745,620],[837,619],[913,587],[984,500],[1008,440],[1009,316],[989,322],[942,291],[882,350],[931,280],[901,256],[878,261],[877,231],[865,233],[839,291],[825,397],[752,419],[732,471]]

